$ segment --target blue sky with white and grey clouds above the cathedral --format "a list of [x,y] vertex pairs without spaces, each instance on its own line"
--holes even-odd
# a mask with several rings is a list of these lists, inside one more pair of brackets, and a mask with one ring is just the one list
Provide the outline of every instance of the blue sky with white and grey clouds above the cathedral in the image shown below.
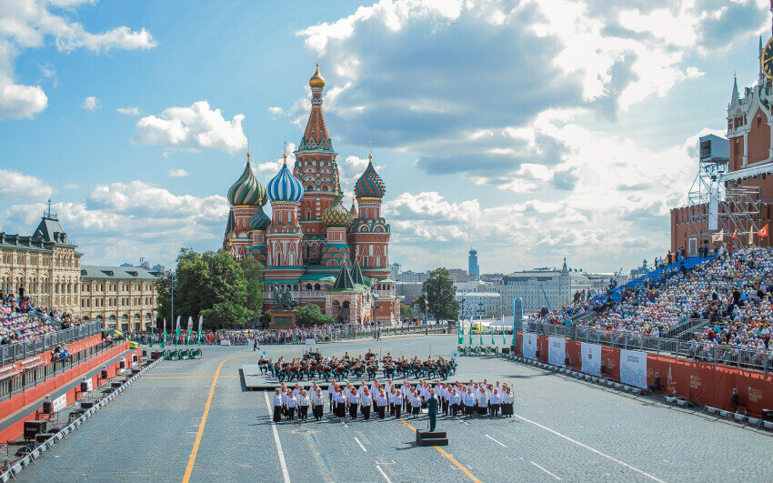
[[373,141],[390,262],[627,271],[668,251],[769,8],[0,0],[0,231],[31,234],[50,198],[83,264],[221,247],[247,144],[265,185],[318,63],[345,204]]

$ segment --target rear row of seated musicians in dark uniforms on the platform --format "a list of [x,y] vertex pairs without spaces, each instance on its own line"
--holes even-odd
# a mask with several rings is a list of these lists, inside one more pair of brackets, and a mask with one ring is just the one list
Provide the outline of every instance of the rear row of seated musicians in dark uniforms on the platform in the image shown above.
[[[317,353],[318,354],[318,353]],[[302,381],[312,379],[343,379],[355,377],[357,379],[366,375],[368,379],[375,379],[377,372],[382,371],[383,377],[427,377],[446,379],[456,374],[457,363],[453,359],[438,357],[437,359],[419,359],[413,357],[399,357],[392,360],[386,356],[380,361],[375,357],[331,357],[316,358],[302,357],[286,361],[279,357],[275,362],[272,359],[261,357],[257,361],[260,373],[276,377],[280,382]]]

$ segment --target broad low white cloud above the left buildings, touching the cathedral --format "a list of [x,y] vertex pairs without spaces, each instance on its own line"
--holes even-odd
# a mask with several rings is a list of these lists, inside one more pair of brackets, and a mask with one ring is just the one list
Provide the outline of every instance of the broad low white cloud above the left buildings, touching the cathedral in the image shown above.
[[[10,206],[3,229],[29,233],[44,209],[43,203]],[[118,265],[146,257],[169,265],[180,247],[219,245],[228,202],[223,196],[175,195],[133,181],[96,186],[85,202],[55,203],[51,209],[85,253],[84,264]]]

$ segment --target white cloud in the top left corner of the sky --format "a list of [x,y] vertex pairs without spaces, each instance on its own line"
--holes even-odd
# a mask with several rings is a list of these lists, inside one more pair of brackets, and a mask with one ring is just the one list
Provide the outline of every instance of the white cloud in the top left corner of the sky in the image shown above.
[[[102,53],[114,49],[148,49],[156,45],[145,28],[133,31],[122,25],[97,34],[86,31],[83,25],[69,18],[74,15],[75,8],[84,3],[80,0],[3,3],[0,8],[0,119],[31,118],[48,105],[43,88],[18,83],[14,69],[17,55],[26,49],[43,47],[48,38],[65,53],[79,48]],[[46,77],[55,75],[55,69],[48,64],[40,69]]]

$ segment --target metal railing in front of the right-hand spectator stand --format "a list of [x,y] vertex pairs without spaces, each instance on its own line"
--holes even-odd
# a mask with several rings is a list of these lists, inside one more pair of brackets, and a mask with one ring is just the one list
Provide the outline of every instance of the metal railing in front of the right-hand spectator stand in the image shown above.
[[684,342],[676,338],[651,337],[644,334],[617,332],[593,327],[561,326],[534,321],[527,322],[526,327],[528,332],[545,336],[564,337],[581,342],[591,342],[593,344],[620,347],[628,350],[646,350],[656,353],[667,352],[677,357],[688,357],[736,367],[750,367],[766,372],[773,370],[773,353],[770,350],[700,344],[697,342]]

